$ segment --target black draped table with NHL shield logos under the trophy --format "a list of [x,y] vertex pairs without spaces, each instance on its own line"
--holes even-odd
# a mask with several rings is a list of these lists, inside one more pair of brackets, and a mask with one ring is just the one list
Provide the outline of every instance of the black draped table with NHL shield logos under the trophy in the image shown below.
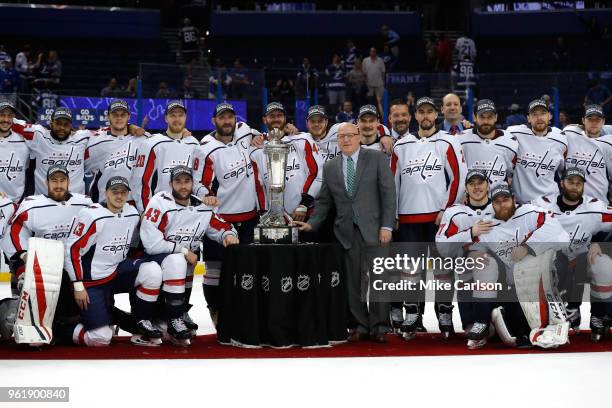
[[217,337],[242,347],[316,347],[346,340],[336,244],[236,245],[221,270]]

